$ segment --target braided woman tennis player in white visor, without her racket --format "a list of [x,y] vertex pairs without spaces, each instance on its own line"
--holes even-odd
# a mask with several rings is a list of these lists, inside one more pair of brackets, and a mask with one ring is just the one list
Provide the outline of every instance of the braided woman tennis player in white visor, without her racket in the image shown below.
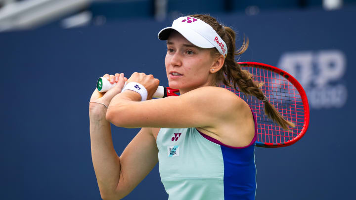
[[[143,73],[129,80],[123,74],[104,75],[117,84],[91,96],[91,153],[101,197],[125,197],[159,162],[169,200],[254,200],[254,115],[247,103],[218,85],[238,86],[263,100],[282,127],[291,124],[234,60],[248,40],[235,51],[234,31],[207,15],[179,17],[158,38],[167,40],[169,86],[180,96],[151,100],[159,80]],[[110,122],[142,127],[120,157]]]

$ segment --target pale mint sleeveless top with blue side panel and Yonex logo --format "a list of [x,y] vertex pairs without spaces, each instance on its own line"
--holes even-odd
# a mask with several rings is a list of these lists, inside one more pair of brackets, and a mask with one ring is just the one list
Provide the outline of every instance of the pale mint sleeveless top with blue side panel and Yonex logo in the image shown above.
[[254,200],[255,141],[256,132],[250,145],[236,148],[196,128],[161,128],[159,172],[169,200]]

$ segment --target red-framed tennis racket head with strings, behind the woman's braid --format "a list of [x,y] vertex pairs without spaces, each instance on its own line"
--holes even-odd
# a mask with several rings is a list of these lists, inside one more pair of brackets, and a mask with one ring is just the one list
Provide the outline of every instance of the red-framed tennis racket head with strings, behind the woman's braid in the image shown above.
[[285,147],[300,140],[309,126],[309,103],[302,85],[290,74],[271,65],[257,62],[239,62],[242,70],[249,71],[255,81],[264,82],[263,93],[284,119],[296,126],[289,131],[267,118],[264,103],[233,87],[221,85],[248,103],[256,115],[258,147]]

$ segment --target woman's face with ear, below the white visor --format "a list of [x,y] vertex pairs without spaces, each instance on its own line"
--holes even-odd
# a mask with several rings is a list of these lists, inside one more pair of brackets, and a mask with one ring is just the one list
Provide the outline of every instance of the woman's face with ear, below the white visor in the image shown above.
[[176,31],[167,40],[165,63],[169,86],[179,89],[180,94],[212,85],[210,69],[214,62],[210,49],[193,45]]

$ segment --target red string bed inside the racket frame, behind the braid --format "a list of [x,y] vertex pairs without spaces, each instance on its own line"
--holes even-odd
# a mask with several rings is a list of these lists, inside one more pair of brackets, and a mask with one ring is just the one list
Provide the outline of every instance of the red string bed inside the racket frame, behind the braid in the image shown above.
[[264,102],[255,96],[246,95],[239,90],[235,90],[233,87],[221,85],[246,101],[255,113],[257,120],[257,141],[283,144],[298,137],[305,123],[305,110],[298,89],[283,76],[272,71],[259,68],[258,66],[242,66],[242,69],[249,71],[253,75],[254,80],[265,83],[261,89],[269,102],[283,118],[295,124],[295,127],[290,127],[289,131],[284,130],[265,115]]

